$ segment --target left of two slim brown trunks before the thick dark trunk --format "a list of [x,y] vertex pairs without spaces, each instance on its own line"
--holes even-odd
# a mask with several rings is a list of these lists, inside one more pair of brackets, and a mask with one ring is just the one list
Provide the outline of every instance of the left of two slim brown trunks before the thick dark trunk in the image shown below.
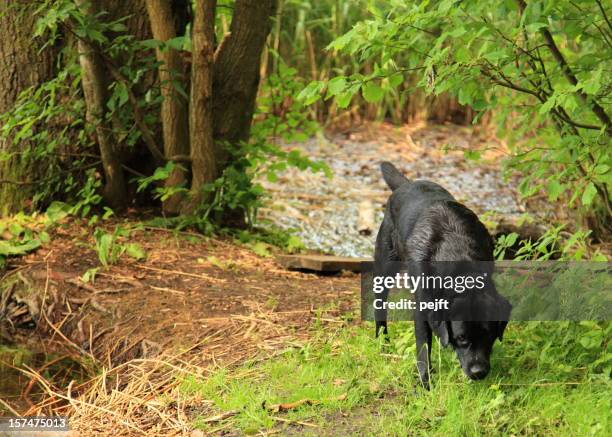
[[[147,0],[147,11],[151,22],[153,37],[167,41],[177,36],[176,16],[172,10],[171,0]],[[185,63],[180,53],[172,48],[157,50],[159,80],[163,97],[161,107],[161,122],[164,139],[164,155],[166,159],[173,156],[189,155],[189,118],[188,102],[176,90],[173,82],[185,83]],[[174,169],[166,179],[165,186],[173,187],[184,184],[187,180],[181,167]],[[182,196],[174,195],[163,204],[164,212],[177,214],[180,211]]]

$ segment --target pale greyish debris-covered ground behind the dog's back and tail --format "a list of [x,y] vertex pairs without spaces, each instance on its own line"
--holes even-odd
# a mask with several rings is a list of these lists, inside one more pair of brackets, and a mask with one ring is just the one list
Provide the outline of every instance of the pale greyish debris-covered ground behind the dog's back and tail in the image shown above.
[[[470,128],[372,125],[287,148],[299,148],[326,162],[334,176],[330,180],[289,169],[275,183],[262,181],[271,196],[260,217],[296,230],[309,249],[343,256],[372,255],[390,194],[378,168],[382,160],[393,162],[409,178],[441,184],[481,218],[485,213],[485,217],[510,218],[524,212],[514,189],[516,181],[502,177],[501,145]],[[463,153],[468,148],[486,152],[480,161],[469,161]],[[360,235],[359,206],[368,201],[375,210],[375,228],[370,235]]]

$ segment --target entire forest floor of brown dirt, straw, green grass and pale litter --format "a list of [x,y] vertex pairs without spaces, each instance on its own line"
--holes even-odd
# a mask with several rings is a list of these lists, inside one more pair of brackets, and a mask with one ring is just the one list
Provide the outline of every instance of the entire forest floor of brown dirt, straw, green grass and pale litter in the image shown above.
[[[311,142],[305,147],[344,176],[327,183],[319,175],[283,175],[269,186],[273,196],[263,213],[298,227],[314,249],[368,254],[372,235],[359,236],[356,211],[345,209],[363,200],[363,189],[380,210],[386,192],[377,163],[384,157],[415,177],[439,174],[477,212],[522,214],[512,184],[492,162],[499,152],[486,152],[490,160],[473,167],[462,152],[446,158],[428,147],[446,142],[440,132],[448,131],[407,137],[381,127],[344,135],[346,146],[341,138]],[[471,141],[470,131],[457,131]],[[382,149],[372,150],[383,137]],[[455,180],[454,174],[472,176]],[[336,197],[344,203],[335,204]],[[308,216],[321,203],[324,214],[345,214],[341,221],[326,227],[330,215]],[[287,211],[294,221],[282,221]],[[10,376],[19,388],[12,396],[0,392],[0,411],[67,414],[80,435],[598,435],[607,429],[609,377],[585,365],[590,352],[567,355],[568,332],[512,326],[496,347],[492,375],[480,383],[468,382],[452,354],[436,347],[434,388],[425,392],[416,378],[411,327],[394,326],[392,342],[381,344],[371,324],[359,320],[358,275],[287,271],[252,245],[130,218],[103,226],[126,229],[146,259],[122,256],[85,283],[83,274],[100,266],[91,227],[66,219],[49,244],[15,259],[2,278],[10,293],[0,306],[14,302],[15,320],[37,314],[36,329],[23,323],[18,331],[23,341],[43,345],[45,359],[24,356],[9,363],[19,370],[0,371],[0,380]],[[41,291],[43,304],[32,297]],[[0,348],[0,359],[9,352]]]

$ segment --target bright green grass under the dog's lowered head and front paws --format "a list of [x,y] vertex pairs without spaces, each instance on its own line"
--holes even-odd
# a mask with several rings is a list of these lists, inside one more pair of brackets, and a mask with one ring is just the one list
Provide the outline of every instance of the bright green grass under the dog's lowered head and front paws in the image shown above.
[[[481,382],[468,381],[454,354],[436,345],[430,392],[418,386],[411,325],[393,328],[394,340],[385,346],[372,338],[369,324],[318,325],[306,344],[263,362],[218,369],[207,379],[186,379],[182,390],[212,401],[219,412],[239,410],[228,420],[245,434],[282,427],[281,435],[582,436],[608,429],[609,324],[513,324]],[[587,348],[579,339],[590,332],[600,332],[601,341]],[[276,413],[262,407],[300,399],[319,402]],[[219,427],[201,417],[194,425]]]

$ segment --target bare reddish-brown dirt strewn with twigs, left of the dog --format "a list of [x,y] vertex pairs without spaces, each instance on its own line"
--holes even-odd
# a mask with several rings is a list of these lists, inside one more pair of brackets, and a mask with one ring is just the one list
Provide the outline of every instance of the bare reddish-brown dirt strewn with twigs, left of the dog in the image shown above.
[[[66,223],[52,235],[49,249],[15,264],[23,281],[13,287],[12,298],[24,307],[28,300],[21,296],[28,290],[45,290],[48,302],[30,306],[42,306],[39,325],[54,334],[53,341],[65,343],[67,337],[75,349],[110,358],[113,365],[154,350],[192,346],[223,329],[244,328],[242,338],[248,340],[263,324],[273,327],[261,330],[264,337],[268,331],[275,338],[277,331],[308,321],[317,308],[346,309],[358,289],[355,275],[290,272],[231,241],[163,230],[133,233],[130,241],[145,249],[146,261],[124,256],[101,270],[95,283],[83,283],[83,273],[99,266],[86,233],[76,222]],[[260,320],[272,315],[274,322]],[[248,348],[248,341],[241,343],[240,350]]]

